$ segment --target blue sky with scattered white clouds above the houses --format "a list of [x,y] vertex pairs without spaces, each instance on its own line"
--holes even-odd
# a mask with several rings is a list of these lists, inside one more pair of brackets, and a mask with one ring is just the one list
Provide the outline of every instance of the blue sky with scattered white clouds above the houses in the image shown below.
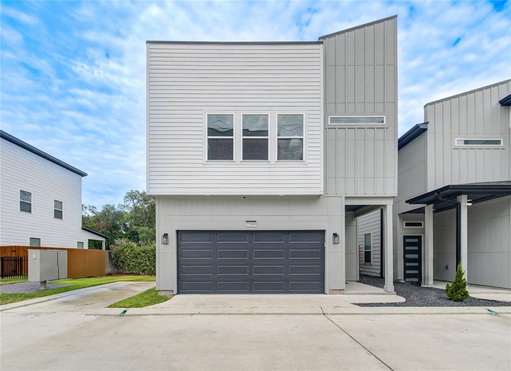
[[146,40],[288,41],[398,14],[399,134],[425,103],[511,77],[509,2],[2,2],[2,129],[84,171],[83,203],[145,189]]

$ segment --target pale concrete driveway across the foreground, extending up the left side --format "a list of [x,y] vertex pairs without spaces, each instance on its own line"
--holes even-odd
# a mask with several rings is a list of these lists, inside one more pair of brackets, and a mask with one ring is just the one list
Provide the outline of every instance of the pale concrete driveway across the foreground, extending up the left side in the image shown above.
[[[43,303],[2,307],[0,368],[6,370],[497,370],[511,367],[511,308],[361,308],[317,300],[252,298],[265,314],[183,315],[165,306],[103,306],[152,287],[124,282],[68,292]],[[174,303],[212,308],[228,298],[182,295]],[[206,296],[206,297],[205,297]],[[242,298],[231,296],[237,305]],[[216,302],[217,301],[217,302]],[[279,302],[281,301],[281,302]],[[287,301],[293,311],[275,308]],[[312,301],[312,303],[311,303]],[[248,304],[247,304],[248,303]],[[340,302],[339,302],[340,303]],[[25,302],[27,304],[27,302]],[[336,303],[338,304],[338,303]],[[222,307],[227,310],[227,307]],[[227,309],[226,309],[227,308]],[[247,307],[248,308],[248,307]],[[273,308],[273,309],[271,309]],[[283,307],[288,308],[289,307]],[[325,307],[327,308],[327,307]],[[200,309],[200,308],[199,308]],[[201,310],[202,310],[201,309]],[[239,308],[238,308],[239,309]],[[280,313],[280,314],[275,314]],[[314,313],[314,314],[310,314]],[[331,314],[330,314],[331,313]]]

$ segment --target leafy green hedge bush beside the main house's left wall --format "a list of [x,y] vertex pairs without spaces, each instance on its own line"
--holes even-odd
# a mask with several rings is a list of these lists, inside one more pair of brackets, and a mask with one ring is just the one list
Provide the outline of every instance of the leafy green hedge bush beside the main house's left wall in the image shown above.
[[156,274],[156,244],[137,245],[130,241],[111,246],[112,262],[131,275]]

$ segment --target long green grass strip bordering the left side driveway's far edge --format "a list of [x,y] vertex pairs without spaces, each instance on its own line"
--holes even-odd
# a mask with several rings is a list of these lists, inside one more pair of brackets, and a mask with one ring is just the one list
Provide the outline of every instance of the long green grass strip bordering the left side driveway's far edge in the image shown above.
[[155,276],[129,276],[129,275],[117,275],[117,276],[100,276],[90,278],[79,278],[65,281],[52,282],[53,284],[69,284],[71,286],[57,287],[44,291],[36,291],[29,293],[0,293],[0,304],[9,304],[20,302],[23,300],[42,298],[43,296],[59,294],[62,292],[78,290],[81,288],[103,285],[105,283],[119,282],[119,281],[155,281]]

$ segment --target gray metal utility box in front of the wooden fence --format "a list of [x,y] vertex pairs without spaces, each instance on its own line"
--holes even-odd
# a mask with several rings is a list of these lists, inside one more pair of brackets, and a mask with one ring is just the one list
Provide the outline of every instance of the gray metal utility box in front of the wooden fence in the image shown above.
[[67,278],[66,250],[29,250],[28,254],[29,281]]

